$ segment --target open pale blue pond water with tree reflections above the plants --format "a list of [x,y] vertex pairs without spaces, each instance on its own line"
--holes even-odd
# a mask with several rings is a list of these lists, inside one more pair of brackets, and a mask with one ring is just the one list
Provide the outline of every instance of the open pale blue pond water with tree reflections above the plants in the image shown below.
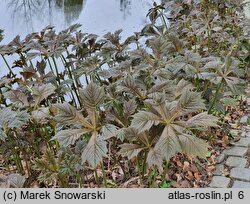
[[147,23],[152,4],[153,0],[1,0],[2,43],[47,25],[60,31],[74,23],[82,24],[83,32],[97,35],[122,28],[126,37]]

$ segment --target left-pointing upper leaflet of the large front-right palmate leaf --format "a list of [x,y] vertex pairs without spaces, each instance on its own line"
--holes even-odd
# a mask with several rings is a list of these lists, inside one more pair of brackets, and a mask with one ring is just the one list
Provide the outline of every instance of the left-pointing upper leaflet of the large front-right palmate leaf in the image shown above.
[[158,125],[159,121],[159,116],[154,113],[140,111],[133,116],[131,127],[143,132],[145,130],[149,130],[153,125]]

